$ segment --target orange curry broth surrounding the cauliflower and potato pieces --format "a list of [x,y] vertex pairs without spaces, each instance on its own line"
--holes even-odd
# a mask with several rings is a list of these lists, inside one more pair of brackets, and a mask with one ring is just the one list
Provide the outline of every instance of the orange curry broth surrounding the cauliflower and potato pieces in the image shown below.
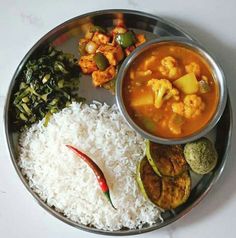
[[[140,75],[140,71],[144,69],[144,62],[151,56],[155,56],[156,60],[149,64],[148,69],[152,71],[150,75]],[[205,109],[201,115],[184,119],[181,134],[173,134],[168,128],[168,120],[173,114],[171,105],[175,102],[174,99],[169,99],[163,103],[161,108],[157,109],[153,104],[145,106],[132,106],[132,102],[145,95],[153,94],[152,89],[147,86],[147,81],[155,79],[168,79],[173,82],[176,79],[169,79],[163,76],[158,67],[161,60],[166,56],[174,57],[178,62],[178,67],[181,70],[181,75],[186,74],[185,65],[195,62],[200,66],[201,76],[205,75],[208,78],[210,91],[207,93],[196,93],[196,95],[202,98],[205,103]],[[132,78],[131,78],[132,75]],[[199,78],[197,77],[199,80]],[[179,90],[180,101],[186,96]],[[205,60],[195,53],[194,51],[178,45],[163,44],[155,48],[151,48],[148,51],[142,53],[130,66],[126,73],[123,83],[123,100],[130,117],[144,130],[151,134],[165,137],[165,138],[177,138],[184,137],[201,129],[212,118],[218,103],[218,86],[216,85],[213,74],[205,62]]]

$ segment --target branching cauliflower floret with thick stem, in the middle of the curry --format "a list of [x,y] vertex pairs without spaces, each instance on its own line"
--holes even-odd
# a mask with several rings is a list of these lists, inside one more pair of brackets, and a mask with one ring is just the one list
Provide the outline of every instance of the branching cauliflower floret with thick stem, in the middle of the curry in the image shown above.
[[162,104],[170,98],[179,100],[179,91],[173,88],[167,79],[151,79],[147,85],[152,88],[155,94],[154,106],[156,108],[160,108]]

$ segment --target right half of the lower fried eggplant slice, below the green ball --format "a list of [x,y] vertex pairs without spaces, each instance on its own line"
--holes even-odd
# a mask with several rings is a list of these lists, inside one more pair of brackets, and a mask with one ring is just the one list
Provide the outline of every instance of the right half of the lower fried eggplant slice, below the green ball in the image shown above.
[[161,197],[155,204],[165,210],[174,209],[187,201],[190,190],[188,171],[177,177],[162,177]]

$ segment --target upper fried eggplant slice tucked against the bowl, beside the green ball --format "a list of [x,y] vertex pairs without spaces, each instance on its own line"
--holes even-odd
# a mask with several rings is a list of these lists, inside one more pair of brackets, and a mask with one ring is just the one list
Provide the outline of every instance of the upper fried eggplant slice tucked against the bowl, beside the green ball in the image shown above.
[[147,141],[146,155],[159,176],[178,176],[188,169],[181,145],[161,145]]

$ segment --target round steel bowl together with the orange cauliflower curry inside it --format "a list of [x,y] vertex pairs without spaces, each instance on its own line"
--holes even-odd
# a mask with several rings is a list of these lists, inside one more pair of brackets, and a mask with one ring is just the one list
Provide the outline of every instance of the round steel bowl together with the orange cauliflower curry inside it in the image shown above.
[[184,144],[217,124],[227,87],[217,60],[200,44],[160,37],[136,48],[123,62],[116,102],[127,123],[144,138]]

